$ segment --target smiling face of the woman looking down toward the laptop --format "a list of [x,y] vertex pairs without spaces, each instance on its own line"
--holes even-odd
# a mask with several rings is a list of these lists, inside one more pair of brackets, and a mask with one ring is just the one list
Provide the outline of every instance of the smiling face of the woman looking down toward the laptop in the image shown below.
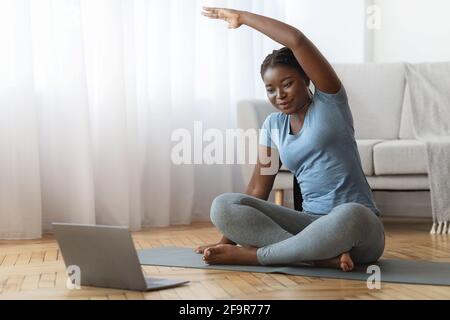
[[269,101],[285,114],[298,112],[310,99],[305,80],[294,68],[268,68],[263,75],[263,81]]

